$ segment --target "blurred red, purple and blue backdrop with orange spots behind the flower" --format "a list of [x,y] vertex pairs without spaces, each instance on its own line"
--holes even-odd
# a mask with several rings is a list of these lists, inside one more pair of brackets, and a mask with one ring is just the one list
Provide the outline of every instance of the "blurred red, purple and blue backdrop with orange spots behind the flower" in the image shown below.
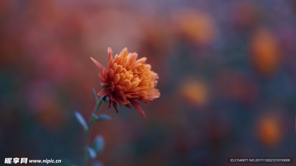
[[89,57],[107,65],[107,47],[147,57],[161,96],[141,104],[147,118],[102,107],[112,120],[96,123],[90,141],[104,137],[104,165],[295,157],[295,1],[4,0],[2,162],[79,162],[83,128],[73,112],[89,119],[91,88],[102,89]]

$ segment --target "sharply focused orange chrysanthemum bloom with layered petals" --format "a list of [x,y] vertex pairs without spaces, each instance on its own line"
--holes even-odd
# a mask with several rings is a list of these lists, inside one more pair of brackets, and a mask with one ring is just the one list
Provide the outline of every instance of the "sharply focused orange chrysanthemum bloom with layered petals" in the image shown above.
[[158,79],[157,73],[151,71],[151,65],[145,64],[146,57],[137,59],[138,54],[128,53],[127,48],[123,48],[120,54],[116,54],[113,58],[112,50],[108,47],[108,54],[107,68],[91,58],[101,69],[99,78],[104,84],[98,95],[108,95],[109,108],[112,102],[117,113],[117,103],[119,103],[120,106],[125,105],[127,108],[131,108],[133,105],[146,117],[138,101],[148,103],[160,96],[158,89],[155,89]]

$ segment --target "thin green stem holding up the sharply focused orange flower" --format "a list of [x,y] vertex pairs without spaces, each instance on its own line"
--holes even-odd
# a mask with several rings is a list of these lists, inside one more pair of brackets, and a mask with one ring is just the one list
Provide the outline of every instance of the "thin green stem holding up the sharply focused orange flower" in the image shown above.
[[[99,111],[99,109],[102,106],[102,103],[104,96],[100,97],[99,101],[96,102],[96,106],[94,108],[93,113],[96,115]],[[91,125],[94,123],[94,118],[92,117],[93,114],[91,114],[91,118],[89,118],[89,122],[87,124],[87,130],[84,133],[84,139],[83,139],[83,145],[82,145],[82,160],[81,160],[81,166],[86,166],[88,162],[88,151],[87,151],[87,143],[89,139],[89,131],[91,129]]]

